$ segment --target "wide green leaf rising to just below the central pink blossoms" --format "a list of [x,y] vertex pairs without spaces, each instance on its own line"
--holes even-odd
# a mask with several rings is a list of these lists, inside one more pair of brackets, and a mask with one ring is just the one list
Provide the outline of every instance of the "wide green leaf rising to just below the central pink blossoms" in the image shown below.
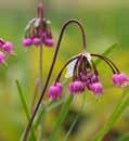
[[57,120],[55,121],[52,134],[49,139],[49,141],[56,141],[57,140],[57,136],[60,133],[60,129],[62,127],[63,121],[65,120],[68,110],[69,110],[69,105],[73,102],[73,94],[69,94],[67,101],[62,105],[60,115]]

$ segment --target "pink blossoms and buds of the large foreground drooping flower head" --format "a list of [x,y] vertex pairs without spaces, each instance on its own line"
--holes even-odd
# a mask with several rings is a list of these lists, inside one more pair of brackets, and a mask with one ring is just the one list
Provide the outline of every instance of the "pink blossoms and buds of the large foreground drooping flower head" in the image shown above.
[[[111,64],[108,65],[111,66]],[[114,68],[112,67],[112,70],[113,70],[113,82],[115,86],[126,87],[129,84],[129,76],[125,75],[124,73],[120,73],[116,66]],[[70,93],[73,94],[82,93],[86,90],[86,88],[92,91],[95,95],[100,95],[103,93],[103,85],[100,81],[98,69],[94,66],[94,64],[88,62],[85,55],[80,56],[76,61],[73,73],[74,73],[73,81],[69,82],[68,85]],[[55,82],[54,86],[51,86],[49,88],[49,98],[52,100],[57,100],[61,97],[62,91],[63,91],[63,85],[61,82]]]

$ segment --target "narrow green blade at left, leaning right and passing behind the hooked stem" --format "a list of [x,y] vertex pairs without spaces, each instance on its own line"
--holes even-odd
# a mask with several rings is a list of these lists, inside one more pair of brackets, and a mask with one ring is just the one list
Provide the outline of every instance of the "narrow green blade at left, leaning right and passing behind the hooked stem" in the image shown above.
[[[30,115],[29,115],[29,111],[28,111],[26,101],[25,101],[24,95],[23,95],[23,91],[22,91],[21,85],[20,85],[18,80],[15,80],[15,82],[16,82],[16,87],[17,87],[18,94],[20,94],[20,100],[21,100],[21,102],[22,102],[24,112],[25,112],[25,114],[26,114],[27,119],[29,120],[29,119],[30,119]],[[30,130],[30,131],[31,131],[31,140],[33,140],[33,141],[37,141],[36,136],[35,136],[34,127],[31,127],[31,130]]]

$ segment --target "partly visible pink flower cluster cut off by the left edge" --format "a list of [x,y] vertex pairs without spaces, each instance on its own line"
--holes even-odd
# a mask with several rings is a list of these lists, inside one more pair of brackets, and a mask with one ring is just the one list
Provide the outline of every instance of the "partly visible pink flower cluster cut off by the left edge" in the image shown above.
[[5,60],[10,54],[14,54],[13,43],[0,38],[0,64],[5,63]]

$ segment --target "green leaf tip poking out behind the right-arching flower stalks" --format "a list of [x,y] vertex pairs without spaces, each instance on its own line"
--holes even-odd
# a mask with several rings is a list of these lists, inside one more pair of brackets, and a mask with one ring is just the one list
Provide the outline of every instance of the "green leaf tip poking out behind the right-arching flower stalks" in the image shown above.
[[[107,50],[105,50],[105,51],[102,53],[102,55],[107,56],[117,46],[118,46],[117,43],[112,44],[111,47],[107,48]],[[98,60],[95,61],[95,64],[98,65],[100,62],[101,62],[101,59],[98,59]]]

